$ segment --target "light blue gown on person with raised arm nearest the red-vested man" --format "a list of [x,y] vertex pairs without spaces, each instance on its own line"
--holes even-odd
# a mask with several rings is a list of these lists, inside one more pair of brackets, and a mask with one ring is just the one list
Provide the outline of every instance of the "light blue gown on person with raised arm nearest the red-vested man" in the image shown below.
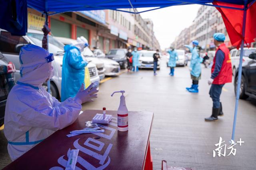
[[188,49],[190,49],[190,52],[192,53],[191,61],[190,61],[190,68],[192,68],[190,74],[195,77],[199,77],[201,74],[201,59],[198,54],[196,47],[191,47],[189,45],[185,45]]

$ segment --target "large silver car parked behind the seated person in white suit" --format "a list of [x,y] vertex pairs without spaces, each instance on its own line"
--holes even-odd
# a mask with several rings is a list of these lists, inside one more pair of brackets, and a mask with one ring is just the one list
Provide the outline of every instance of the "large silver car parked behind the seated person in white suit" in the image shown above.
[[[20,78],[20,61],[19,53],[22,46],[26,44],[34,44],[42,47],[42,31],[29,29],[26,36],[14,36],[10,32],[1,30],[0,32],[0,51],[3,55],[14,63],[17,68],[15,72],[16,81]],[[57,41],[49,35],[49,52],[54,54],[55,60],[52,62],[54,66],[54,76],[50,80],[50,94],[57,99],[60,99],[61,94],[61,80],[62,80],[62,61],[64,55],[64,44]],[[94,64],[88,64],[89,71],[91,73],[90,80],[94,82],[95,86],[99,86],[99,76],[93,70]],[[93,73],[93,74],[92,74]],[[47,89],[47,82],[43,84]]]

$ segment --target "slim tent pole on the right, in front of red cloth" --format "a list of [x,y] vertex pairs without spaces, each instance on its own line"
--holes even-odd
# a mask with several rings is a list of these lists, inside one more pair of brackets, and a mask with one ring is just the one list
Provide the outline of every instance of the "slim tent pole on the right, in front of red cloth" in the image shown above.
[[240,52],[240,62],[239,62],[239,70],[238,70],[238,84],[236,87],[236,106],[234,113],[234,122],[233,122],[233,130],[232,130],[232,140],[234,141],[235,137],[235,129],[236,129],[236,116],[238,109],[238,101],[240,96],[240,85],[241,85],[241,77],[242,77],[242,63],[243,63],[243,55],[244,55],[244,37],[245,37],[245,26],[246,26],[246,14],[247,14],[247,0],[244,1],[244,16],[243,16],[243,27],[242,27],[242,43],[241,43],[241,52]]

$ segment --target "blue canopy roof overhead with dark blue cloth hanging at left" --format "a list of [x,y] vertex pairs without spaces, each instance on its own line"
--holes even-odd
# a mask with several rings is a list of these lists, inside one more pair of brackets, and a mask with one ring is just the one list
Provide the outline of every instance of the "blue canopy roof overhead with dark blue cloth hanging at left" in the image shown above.
[[[214,6],[215,0],[0,0],[0,28],[16,35],[27,31],[27,6],[49,15],[86,10],[121,10],[123,8],[165,8],[168,6],[202,4]],[[244,4],[243,0],[219,0],[230,4]],[[248,0],[247,3],[255,2]],[[228,5],[226,6],[227,8]],[[240,8],[240,10],[243,10]],[[122,10],[121,10],[122,11]],[[127,11],[126,11],[127,12]]]

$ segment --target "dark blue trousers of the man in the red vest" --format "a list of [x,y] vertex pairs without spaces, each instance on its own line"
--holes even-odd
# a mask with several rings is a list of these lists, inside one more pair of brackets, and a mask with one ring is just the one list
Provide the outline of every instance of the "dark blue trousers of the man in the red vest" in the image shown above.
[[220,108],[220,94],[224,84],[212,84],[210,88],[210,97],[212,98],[212,108]]

